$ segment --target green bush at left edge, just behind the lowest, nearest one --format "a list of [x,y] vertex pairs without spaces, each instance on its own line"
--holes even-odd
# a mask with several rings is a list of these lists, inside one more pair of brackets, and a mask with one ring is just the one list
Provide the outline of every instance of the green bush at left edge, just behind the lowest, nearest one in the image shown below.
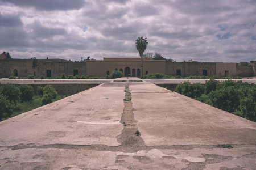
[[6,99],[10,100],[10,102],[13,102],[15,105],[17,105],[17,103],[19,102],[19,99],[20,99],[19,88],[12,83],[1,84],[0,93],[6,96]]

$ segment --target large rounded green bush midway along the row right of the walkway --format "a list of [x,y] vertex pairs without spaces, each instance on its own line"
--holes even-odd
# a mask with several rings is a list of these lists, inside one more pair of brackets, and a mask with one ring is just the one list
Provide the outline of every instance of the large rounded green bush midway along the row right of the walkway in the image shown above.
[[239,93],[234,86],[218,88],[217,84],[217,90],[210,92],[209,98],[212,101],[214,107],[230,113],[236,111],[236,109],[240,105]]

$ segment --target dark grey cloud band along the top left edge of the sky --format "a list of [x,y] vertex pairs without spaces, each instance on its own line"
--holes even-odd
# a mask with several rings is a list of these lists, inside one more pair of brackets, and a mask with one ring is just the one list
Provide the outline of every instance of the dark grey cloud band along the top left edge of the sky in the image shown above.
[[13,3],[17,6],[34,7],[38,10],[52,11],[52,10],[79,10],[85,5],[83,0],[1,0],[6,3]]

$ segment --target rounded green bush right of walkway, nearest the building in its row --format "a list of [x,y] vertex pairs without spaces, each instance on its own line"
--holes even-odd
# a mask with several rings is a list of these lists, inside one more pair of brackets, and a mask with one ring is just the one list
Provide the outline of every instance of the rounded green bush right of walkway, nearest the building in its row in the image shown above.
[[204,86],[200,83],[191,84],[189,81],[187,81],[179,84],[175,91],[181,95],[195,99],[204,94]]

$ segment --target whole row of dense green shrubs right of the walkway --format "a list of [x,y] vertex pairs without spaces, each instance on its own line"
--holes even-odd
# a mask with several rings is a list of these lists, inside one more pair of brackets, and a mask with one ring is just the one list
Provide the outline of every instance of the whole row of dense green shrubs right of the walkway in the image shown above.
[[175,91],[230,113],[241,112],[242,117],[256,121],[255,84],[233,80],[219,82],[210,79],[203,86],[200,83],[191,84],[187,81],[179,84]]

